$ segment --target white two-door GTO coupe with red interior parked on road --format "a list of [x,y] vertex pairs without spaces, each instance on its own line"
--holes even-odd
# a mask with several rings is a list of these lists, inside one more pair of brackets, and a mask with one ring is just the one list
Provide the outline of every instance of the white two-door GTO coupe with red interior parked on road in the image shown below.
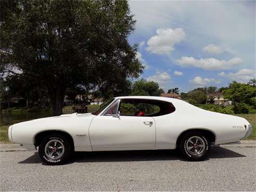
[[237,142],[252,126],[241,117],[206,111],[178,99],[117,97],[95,113],[35,119],[9,127],[9,140],[37,149],[47,164],[61,164],[72,152],[179,149],[203,160],[211,144]]

